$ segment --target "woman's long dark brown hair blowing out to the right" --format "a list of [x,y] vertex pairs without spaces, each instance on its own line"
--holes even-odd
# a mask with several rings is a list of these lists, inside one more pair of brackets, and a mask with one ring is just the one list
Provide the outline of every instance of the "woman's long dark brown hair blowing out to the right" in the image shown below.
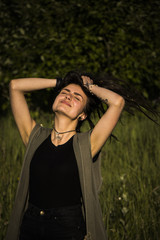
[[[98,99],[95,95],[92,95],[88,89],[83,86],[82,76],[88,76],[93,80],[94,84],[112,90],[121,95],[125,100],[124,110],[128,113],[134,115],[135,110],[137,110],[157,123],[155,117],[159,117],[159,113],[152,108],[151,104],[142,96],[142,94],[138,93],[133,86],[131,87],[125,81],[104,74],[101,76],[93,77],[88,73],[80,73],[75,71],[68,72],[64,79],[61,80],[58,89],[55,91],[54,97],[56,98],[61,89],[71,83],[79,85],[88,99],[84,112],[87,115],[86,120],[88,121],[91,128],[94,127],[91,114],[97,114],[100,118],[106,111],[106,104],[100,101],[100,99]],[[78,131],[80,130],[82,123],[82,121],[79,121],[77,125]]]

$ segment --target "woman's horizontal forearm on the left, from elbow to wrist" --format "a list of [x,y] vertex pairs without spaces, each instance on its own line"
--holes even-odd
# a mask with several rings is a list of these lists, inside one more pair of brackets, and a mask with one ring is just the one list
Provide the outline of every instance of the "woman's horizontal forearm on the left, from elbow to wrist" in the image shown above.
[[20,78],[13,79],[10,82],[10,89],[20,92],[29,92],[45,88],[54,88],[56,79],[45,78]]

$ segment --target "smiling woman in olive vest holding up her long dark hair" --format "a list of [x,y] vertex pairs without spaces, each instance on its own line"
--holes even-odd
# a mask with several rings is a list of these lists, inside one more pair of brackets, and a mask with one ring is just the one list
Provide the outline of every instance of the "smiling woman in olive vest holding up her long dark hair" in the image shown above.
[[[45,88],[55,88],[53,129],[32,119],[24,97],[25,92]],[[116,126],[125,100],[127,106],[139,108],[133,96],[115,81],[93,81],[69,72],[63,80],[12,80],[10,98],[27,149],[6,240],[107,239],[98,200],[99,152]],[[105,112],[102,102],[107,105]],[[90,115],[95,108],[99,116],[104,114],[93,127]],[[85,120],[93,129],[79,133]]]

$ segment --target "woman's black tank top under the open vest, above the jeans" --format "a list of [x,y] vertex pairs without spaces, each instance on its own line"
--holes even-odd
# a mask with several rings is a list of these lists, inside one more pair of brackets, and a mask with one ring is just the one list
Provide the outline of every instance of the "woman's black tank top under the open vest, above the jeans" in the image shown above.
[[47,209],[79,204],[81,196],[73,137],[56,147],[49,135],[30,164],[29,202]]

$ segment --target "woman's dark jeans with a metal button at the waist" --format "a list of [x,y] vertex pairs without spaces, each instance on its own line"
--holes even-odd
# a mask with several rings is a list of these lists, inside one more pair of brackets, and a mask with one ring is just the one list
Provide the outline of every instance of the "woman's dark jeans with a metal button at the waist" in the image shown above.
[[83,240],[86,226],[81,206],[41,210],[29,204],[19,240]]

